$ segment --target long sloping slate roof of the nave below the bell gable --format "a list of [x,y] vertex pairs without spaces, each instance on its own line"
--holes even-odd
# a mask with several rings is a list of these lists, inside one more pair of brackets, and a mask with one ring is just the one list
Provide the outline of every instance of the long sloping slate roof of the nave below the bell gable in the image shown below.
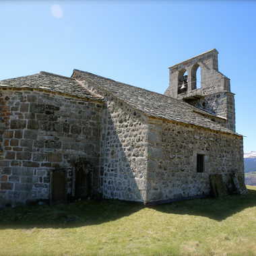
[[74,69],[71,77],[79,81],[84,81],[99,90],[109,92],[133,106],[133,108],[141,110],[151,117],[168,119],[238,135],[238,133],[234,133],[234,131],[212,121],[211,119],[214,118],[214,115],[199,110],[199,108],[191,106],[182,100],[177,100],[156,92],[150,92],[143,88],[130,86],[129,84],[116,82],[113,79],[77,69]]

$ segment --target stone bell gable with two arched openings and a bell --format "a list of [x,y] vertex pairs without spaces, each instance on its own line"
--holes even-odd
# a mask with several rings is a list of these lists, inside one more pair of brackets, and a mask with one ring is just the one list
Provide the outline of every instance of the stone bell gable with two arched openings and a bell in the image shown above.
[[169,70],[166,96],[226,119],[226,127],[235,131],[234,94],[230,92],[230,79],[218,71],[216,49],[173,65]]

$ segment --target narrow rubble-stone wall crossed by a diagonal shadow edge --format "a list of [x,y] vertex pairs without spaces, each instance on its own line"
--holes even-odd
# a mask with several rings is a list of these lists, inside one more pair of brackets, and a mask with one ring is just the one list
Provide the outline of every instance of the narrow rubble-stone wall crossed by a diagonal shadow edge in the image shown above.
[[104,94],[101,181],[105,198],[146,200],[147,123],[139,111]]

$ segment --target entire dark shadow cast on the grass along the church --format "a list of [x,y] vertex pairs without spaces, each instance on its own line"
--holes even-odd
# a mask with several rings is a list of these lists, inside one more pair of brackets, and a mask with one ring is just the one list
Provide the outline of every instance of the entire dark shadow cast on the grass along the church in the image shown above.
[[[166,214],[204,216],[221,221],[248,207],[256,206],[256,191],[220,199],[193,199],[148,207]],[[118,220],[146,208],[140,203],[118,200],[78,201],[62,205],[7,208],[0,211],[0,229],[75,228]]]

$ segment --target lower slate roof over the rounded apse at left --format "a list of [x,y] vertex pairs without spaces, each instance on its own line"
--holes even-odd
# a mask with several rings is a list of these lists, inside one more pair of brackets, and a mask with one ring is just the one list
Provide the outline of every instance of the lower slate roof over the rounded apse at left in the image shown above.
[[79,98],[88,98],[92,100],[102,100],[101,96],[94,95],[72,77],[56,75],[41,71],[34,75],[4,79],[0,81],[1,87],[9,88],[33,88],[38,90],[49,90],[61,94],[69,94]]

